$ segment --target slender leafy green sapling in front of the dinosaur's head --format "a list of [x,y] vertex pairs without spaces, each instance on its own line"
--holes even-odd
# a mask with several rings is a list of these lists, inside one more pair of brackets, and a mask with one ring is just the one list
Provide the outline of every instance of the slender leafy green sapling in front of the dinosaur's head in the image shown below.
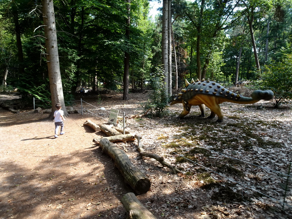
[[150,95],[149,102],[145,105],[145,109],[151,109],[150,113],[157,117],[161,117],[166,113],[168,108],[168,98],[165,97],[164,71],[161,66],[156,67],[156,72],[152,74],[151,88],[153,92]]

